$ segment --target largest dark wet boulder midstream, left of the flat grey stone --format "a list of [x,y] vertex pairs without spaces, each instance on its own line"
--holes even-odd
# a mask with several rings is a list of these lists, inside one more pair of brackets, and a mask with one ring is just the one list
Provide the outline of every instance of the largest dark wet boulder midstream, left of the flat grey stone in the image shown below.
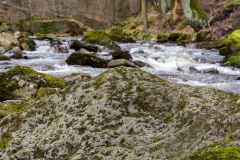
[[92,54],[74,52],[67,59],[68,65],[87,65],[96,68],[106,67],[107,61]]

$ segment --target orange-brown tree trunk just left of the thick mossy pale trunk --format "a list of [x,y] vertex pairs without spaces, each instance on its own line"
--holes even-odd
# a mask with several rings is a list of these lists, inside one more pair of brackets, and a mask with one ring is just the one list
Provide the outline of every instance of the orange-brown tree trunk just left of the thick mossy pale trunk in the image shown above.
[[173,10],[173,24],[177,21],[181,21],[184,18],[182,0],[176,0]]

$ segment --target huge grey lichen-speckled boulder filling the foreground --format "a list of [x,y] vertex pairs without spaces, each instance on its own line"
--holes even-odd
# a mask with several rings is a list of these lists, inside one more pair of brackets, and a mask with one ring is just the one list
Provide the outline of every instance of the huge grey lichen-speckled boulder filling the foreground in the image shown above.
[[0,159],[171,160],[239,147],[239,99],[110,69],[2,119]]

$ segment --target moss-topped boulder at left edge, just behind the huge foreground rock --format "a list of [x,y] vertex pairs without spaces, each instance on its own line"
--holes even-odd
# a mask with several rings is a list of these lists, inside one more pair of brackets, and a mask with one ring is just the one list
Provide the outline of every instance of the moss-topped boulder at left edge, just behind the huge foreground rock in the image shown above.
[[66,82],[23,66],[0,73],[0,101],[34,99],[40,87],[63,89]]

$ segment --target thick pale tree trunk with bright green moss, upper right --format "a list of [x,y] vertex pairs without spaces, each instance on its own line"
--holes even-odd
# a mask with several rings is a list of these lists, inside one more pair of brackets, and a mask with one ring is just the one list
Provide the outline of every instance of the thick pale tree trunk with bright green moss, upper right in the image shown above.
[[207,24],[207,14],[198,0],[182,0],[184,14],[195,31],[203,29]]

